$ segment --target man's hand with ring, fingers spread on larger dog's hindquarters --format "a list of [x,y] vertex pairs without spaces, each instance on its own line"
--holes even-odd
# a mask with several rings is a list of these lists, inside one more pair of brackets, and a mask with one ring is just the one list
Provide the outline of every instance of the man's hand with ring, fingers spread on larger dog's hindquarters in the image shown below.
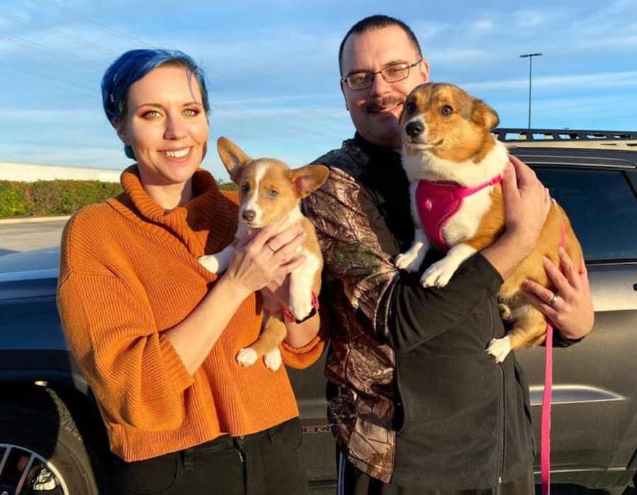
[[[534,280],[526,280],[522,285],[522,293],[551,319],[564,338],[576,340],[590,334],[595,322],[588,272],[584,258],[580,260],[578,270],[565,249],[560,248],[559,253],[562,271],[549,258],[544,258],[544,269],[555,285],[556,292]],[[556,296],[555,300],[553,296]]]

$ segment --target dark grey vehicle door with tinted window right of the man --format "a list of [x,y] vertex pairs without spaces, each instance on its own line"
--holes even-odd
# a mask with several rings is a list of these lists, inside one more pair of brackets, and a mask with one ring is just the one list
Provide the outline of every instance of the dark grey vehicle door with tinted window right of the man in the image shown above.
[[[637,449],[637,172],[629,161],[520,157],[570,217],[595,308],[592,333],[553,351],[553,481],[609,486],[626,477]],[[544,348],[517,357],[529,377],[539,439]]]

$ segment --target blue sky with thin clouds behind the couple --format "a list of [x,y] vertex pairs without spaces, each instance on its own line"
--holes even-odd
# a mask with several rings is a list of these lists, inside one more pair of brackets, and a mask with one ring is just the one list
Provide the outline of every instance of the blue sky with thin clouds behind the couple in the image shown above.
[[[503,127],[637,129],[637,0],[423,2],[174,0],[0,2],[0,161],[130,163],[99,84],[125,50],[188,52],[207,72],[210,137],[253,157],[305,164],[352,135],[338,45],[360,18],[413,28],[433,81],[490,103]],[[206,168],[226,179],[214,147]]]

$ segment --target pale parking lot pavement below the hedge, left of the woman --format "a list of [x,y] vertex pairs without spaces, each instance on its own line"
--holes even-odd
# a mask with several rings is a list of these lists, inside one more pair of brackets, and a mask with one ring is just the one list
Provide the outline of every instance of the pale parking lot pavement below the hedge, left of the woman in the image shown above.
[[0,222],[0,256],[16,251],[57,246],[66,223],[67,220]]

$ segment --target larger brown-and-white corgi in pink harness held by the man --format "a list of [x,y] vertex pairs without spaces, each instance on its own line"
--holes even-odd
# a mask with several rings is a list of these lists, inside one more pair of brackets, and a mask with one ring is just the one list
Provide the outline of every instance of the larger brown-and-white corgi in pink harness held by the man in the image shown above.
[[[406,253],[396,256],[396,266],[418,271],[433,245],[447,254],[427,268],[420,283],[442,288],[466,258],[493,243],[504,230],[500,178],[509,163],[507,149],[491,134],[499,122],[495,110],[452,84],[415,88],[405,101],[400,122],[415,238]],[[493,339],[487,348],[498,363],[511,349],[544,342],[544,315],[520,288],[531,278],[554,289],[542,256],[559,266],[561,244],[580,263],[580,243],[566,213],[552,201],[536,248],[500,288],[500,311],[513,325],[507,336]]]

